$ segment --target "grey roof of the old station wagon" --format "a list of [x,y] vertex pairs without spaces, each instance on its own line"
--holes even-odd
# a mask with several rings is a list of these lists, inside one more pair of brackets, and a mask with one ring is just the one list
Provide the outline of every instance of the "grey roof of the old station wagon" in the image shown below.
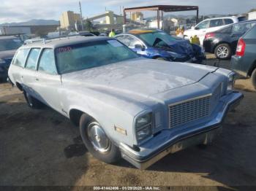
[[32,48],[32,47],[39,47],[39,48],[56,48],[56,47],[63,47],[72,44],[79,44],[83,42],[95,42],[99,40],[108,40],[113,39],[105,36],[68,36],[59,39],[50,39],[50,40],[40,40],[39,42],[31,42],[28,44],[24,44],[20,48]]

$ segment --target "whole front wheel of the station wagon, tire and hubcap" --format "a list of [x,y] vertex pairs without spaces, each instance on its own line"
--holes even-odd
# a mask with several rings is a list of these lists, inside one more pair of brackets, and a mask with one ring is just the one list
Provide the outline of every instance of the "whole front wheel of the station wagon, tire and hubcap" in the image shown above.
[[[110,164],[120,160],[121,153],[119,148],[108,138],[99,123],[94,119],[89,119],[86,114],[82,114],[80,117],[80,136],[91,155],[97,159]],[[100,145],[97,145],[97,143]]]

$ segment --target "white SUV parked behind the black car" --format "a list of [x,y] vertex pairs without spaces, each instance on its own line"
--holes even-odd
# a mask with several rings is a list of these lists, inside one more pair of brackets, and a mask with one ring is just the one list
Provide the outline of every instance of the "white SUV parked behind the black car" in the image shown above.
[[[184,36],[186,39],[190,39],[191,36],[197,35],[200,40],[200,44],[203,46],[203,39],[206,36],[206,33],[210,33],[212,31],[217,31],[220,28],[230,25],[232,23],[238,23],[240,17],[215,17],[208,18],[206,20],[201,21],[196,26],[192,26],[191,29],[184,31]],[[241,17],[242,18],[242,17]]]

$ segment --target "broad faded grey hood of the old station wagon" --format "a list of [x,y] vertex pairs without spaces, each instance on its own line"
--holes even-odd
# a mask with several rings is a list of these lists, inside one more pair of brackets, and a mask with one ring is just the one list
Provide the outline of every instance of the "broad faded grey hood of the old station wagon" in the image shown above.
[[64,84],[94,90],[119,92],[148,97],[174,88],[194,84],[215,67],[192,63],[171,63],[135,58],[106,66],[62,74]]

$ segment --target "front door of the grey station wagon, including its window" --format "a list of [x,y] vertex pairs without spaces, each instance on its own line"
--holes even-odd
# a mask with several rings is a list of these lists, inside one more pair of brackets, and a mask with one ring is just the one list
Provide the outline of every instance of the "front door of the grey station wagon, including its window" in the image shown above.
[[42,50],[37,67],[37,85],[39,100],[58,112],[61,112],[61,76],[58,74],[54,51],[51,48]]

